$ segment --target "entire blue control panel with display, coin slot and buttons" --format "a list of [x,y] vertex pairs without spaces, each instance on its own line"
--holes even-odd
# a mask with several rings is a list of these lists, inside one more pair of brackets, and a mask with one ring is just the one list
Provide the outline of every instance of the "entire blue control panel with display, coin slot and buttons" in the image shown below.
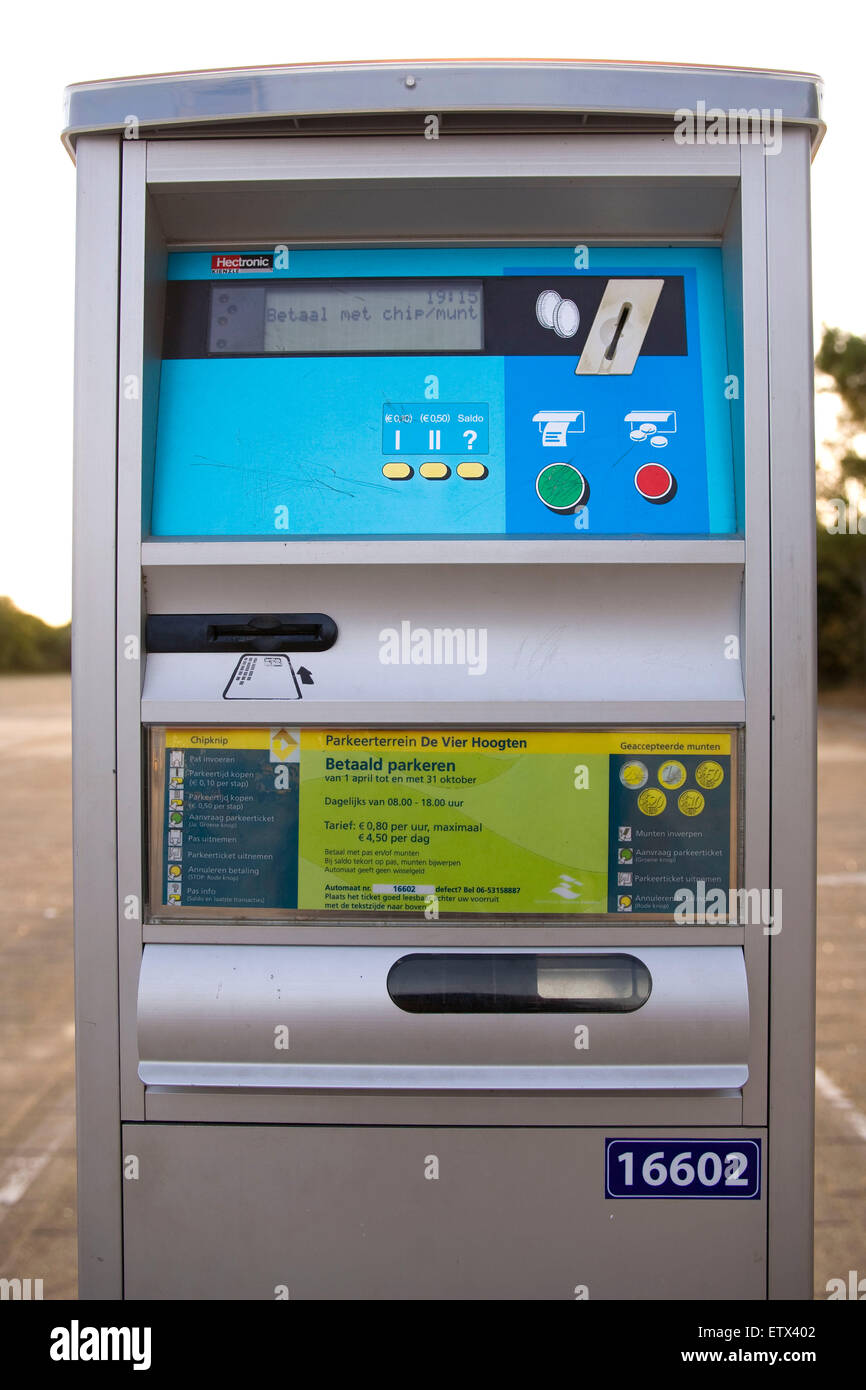
[[735,534],[726,379],[714,249],[175,253],[150,532]]

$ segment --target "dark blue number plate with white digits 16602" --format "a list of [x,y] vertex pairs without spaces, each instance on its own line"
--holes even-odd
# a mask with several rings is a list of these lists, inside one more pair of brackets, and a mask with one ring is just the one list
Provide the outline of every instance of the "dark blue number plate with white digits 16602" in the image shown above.
[[606,1138],[605,1197],[760,1197],[760,1140]]

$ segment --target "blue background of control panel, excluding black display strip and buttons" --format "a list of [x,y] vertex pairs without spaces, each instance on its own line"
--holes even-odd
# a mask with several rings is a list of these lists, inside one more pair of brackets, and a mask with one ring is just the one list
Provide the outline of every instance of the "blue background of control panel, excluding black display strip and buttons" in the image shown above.
[[[272,247],[265,247],[272,250]],[[254,247],[249,247],[254,250]],[[172,253],[171,279],[222,279],[211,272],[210,253]],[[288,270],[238,279],[316,279],[367,277],[495,277],[495,275],[627,275],[683,274],[687,296],[688,357],[641,359],[630,379],[575,381],[563,359],[509,361],[509,410],[505,406],[503,360],[473,357],[385,359],[252,359],[165,361],[160,402],[157,470],[153,506],[154,535],[466,535],[506,531],[506,425],[509,450],[510,534],[574,532],[573,518],[535,507],[528,439],[516,428],[532,399],[556,385],[582,386],[587,396],[631,396],[652,386],[653,402],[680,411],[676,500],[648,507],[621,485],[631,457],[620,459],[617,442],[599,435],[603,411],[594,409],[581,453],[595,452],[592,530],[595,534],[714,534],[737,531],[731,414],[724,399],[727,350],[721,292],[721,253],[716,247],[589,247],[588,264],[575,270],[571,246],[491,247],[364,247],[291,250]],[[235,277],[228,277],[235,278]],[[398,482],[382,477],[382,409],[423,403],[424,377],[439,377],[443,402],[488,406],[489,475],[468,482],[455,473],[459,456],[448,457],[448,480],[424,480],[420,456],[413,477]],[[646,381],[644,381],[646,378]],[[655,382],[655,385],[653,385]],[[531,391],[530,391],[531,388]],[[544,388],[544,389],[542,389]],[[620,396],[623,398],[620,400]],[[667,398],[670,396],[670,402]],[[571,399],[569,393],[563,399]],[[559,400],[559,396],[557,396]],[[435,404],[431,402],[431,404]],[[594,402],[595,406],[595,402]],[[621,411],[620,411],[621,414]],[[702,416],[702,418],[701,418]],[[613,418],[613,417],[612,417]],[[620,421],[621,424],[621,421]],[[613,427],[612,427],[613,430]],[[689,438],[691,435],[691,438]],[[532,445],[537,439],[532,435]],[[413,448],[417,439],[411,441]],[[445,441],[443,441],[445,443]],[[448,439],[448,445],[453,441]],[[605,453],[606,450],[606,453]],[[634,452],[634,450],[631,450]],[[670,452],[674,459],[673,448]],[[605,459],[610,456],[609,464]],[[603,456],[603,457],[602,457]],[[648,455],[648,457],[653,457]],[[603,467],[599,468],[598,460]],[[386,461],[386,456],[385,456]],[[577,463],[577,457],[574,460]],[[525,477],[524,477],[525,474]],[[596,481],[598,480],[598,481]],[[616,486],[614,486],[616,485]],[[595,505],[594,505],[595,503]],[[288,531],[275,528],[277,507],[289,509]],[[635,513],[635,507],[638,512]],[[635,513],[635,514],[632,514]],[[638,514],[639,513],[639,514]]]

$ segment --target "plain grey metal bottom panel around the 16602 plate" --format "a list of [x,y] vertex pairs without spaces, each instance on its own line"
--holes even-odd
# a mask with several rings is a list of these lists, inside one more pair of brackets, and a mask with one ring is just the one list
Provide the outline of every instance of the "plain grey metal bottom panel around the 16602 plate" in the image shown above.
[[[762,1137],[655,1131],[684,1148],[695,1133],[734,1148]],[[651,1126],[126,1125],[139,1177],[124,1183],[125,1297],[765,1298],[763,1190],[607,1197],[605,1138],[632,1136],[655,1137]]]

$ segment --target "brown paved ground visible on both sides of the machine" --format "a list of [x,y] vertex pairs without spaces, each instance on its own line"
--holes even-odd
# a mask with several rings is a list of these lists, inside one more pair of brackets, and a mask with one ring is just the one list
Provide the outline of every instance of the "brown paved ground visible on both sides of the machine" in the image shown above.
[[[0,677],[0,1277],[75,1295],[68,681]],[[822,712],[815,1293],[866,1276],[866,705]]]

